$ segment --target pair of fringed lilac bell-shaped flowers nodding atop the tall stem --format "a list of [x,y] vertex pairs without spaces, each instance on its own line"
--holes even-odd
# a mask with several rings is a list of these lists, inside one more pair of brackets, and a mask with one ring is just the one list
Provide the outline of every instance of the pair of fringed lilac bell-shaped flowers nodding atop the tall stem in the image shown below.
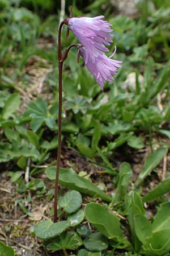
[[118,67],[121,67],[122,61],[111,59],[116,53],[116,47],[111,57],[107,57],[104,52],[109,52],[105,47],[112,42],[113,35],[107,21],[101,20],[104,16],[95,18],[70,18],[67,26],[73,31],[76,38],[82,43],[79,45],[79,55],[84,59],[88,70],[95,77],[97,83],[103,90],[106,81],[111,82],[113,75],[116,75]]

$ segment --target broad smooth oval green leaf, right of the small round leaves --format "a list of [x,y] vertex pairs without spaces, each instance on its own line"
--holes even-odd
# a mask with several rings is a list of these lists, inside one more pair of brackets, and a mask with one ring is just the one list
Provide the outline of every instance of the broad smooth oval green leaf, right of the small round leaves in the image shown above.
[[85,208],[87,220],[95,226],[101,234],[109,239],[122,240],[124,237],[120,229],[120,219],[109,212],[106,205],[89,203]]

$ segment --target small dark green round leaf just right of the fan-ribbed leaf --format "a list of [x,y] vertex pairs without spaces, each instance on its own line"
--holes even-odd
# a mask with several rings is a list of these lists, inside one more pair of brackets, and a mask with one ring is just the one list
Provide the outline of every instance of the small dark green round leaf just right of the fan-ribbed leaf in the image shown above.
[[84,247],[89,251],[103,251],[108,247],[108,240],[99,232],[92,233],[83,241]]

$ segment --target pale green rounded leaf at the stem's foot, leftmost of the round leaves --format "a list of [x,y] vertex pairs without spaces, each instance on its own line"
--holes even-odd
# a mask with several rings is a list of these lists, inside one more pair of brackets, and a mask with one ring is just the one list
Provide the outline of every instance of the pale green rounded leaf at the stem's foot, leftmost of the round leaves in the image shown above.
[[69,225],[69,221],[59,221],[55,223],[51,220],[40,221],[35,226],[35,236],[42,240],[50,239],[61,234],[69,228]]

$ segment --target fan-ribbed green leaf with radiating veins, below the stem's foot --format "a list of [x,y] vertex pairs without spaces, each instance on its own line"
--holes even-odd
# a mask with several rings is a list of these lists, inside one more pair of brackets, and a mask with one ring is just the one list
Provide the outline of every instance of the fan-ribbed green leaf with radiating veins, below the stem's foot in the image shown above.
[[[59,223],[59,222],[58,222]],[[60,236],[54,237],[52,240],[45,241],[48,250],[54,252],[63,249],[75,250],[82,245],[82,238],[74,232],[63,232]]]

